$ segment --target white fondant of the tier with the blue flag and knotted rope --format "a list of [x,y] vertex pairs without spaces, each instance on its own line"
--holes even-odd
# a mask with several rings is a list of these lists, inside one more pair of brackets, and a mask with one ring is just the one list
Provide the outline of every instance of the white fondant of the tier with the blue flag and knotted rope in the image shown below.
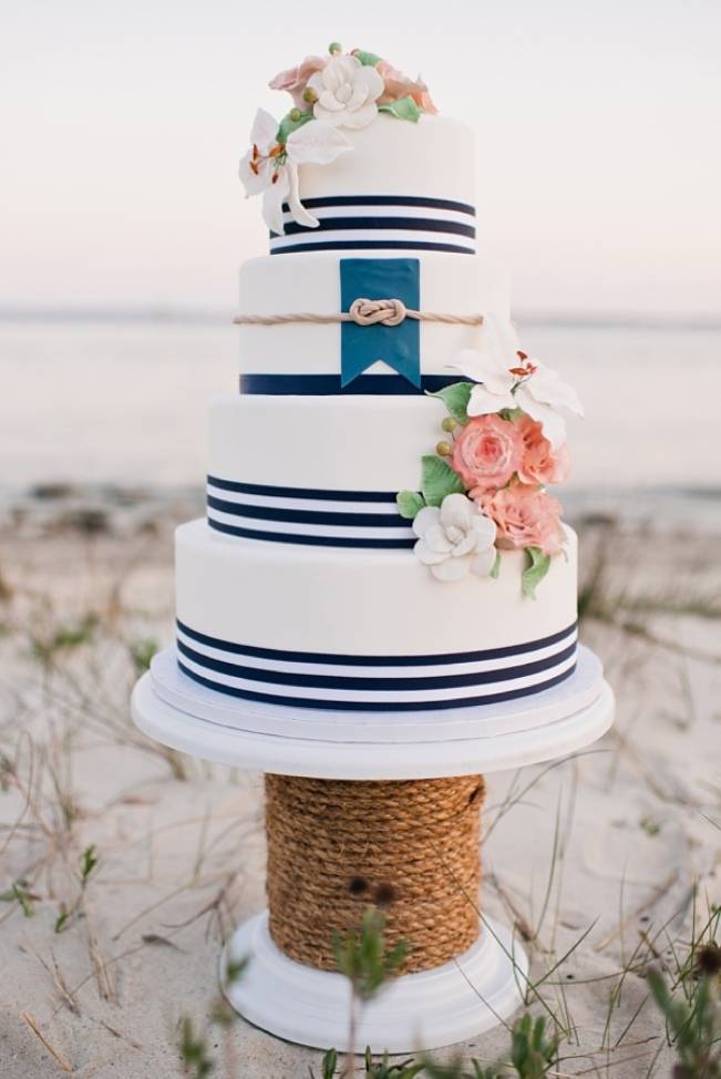
[[[437,237],[436,237],[437,238]],[[240,269],[240,315],[337,315],[340,259],[362,251],[308,253],[253,258]],[[419,258],[421,310],[509,317],[507,274],[475,256],[429,251],[367,251],[378,258]],[[389,296],[389,299],[392,297]],[[253,374],[339,374],[340,323],[240,326],[240,370]],[[421,371],[461,378],[451,368],[461,349],[480,342],[480,327],[422,322]]]

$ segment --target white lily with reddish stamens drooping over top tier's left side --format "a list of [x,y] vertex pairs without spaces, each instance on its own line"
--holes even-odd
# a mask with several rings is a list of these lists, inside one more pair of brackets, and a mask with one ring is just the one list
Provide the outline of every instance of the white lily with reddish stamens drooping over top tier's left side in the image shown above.
[[246,197],[262,194],[262,216],[274,233],[284,233],[285,202],[293,220],[307,228],[317,228],[318,219],[300,202],[298,166],[328,165],[352,146],[341,132],[318,120],[297,127],[285,143],[279,143],[277,135],[278,121],[265,109],[259,109],[250,132],[251,148],[240,162]]

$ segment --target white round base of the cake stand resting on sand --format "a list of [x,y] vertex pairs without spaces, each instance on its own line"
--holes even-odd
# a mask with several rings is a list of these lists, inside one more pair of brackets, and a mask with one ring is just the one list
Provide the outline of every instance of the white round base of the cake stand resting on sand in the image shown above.
[[[248,958],[243,977],[225,985],[229,959]],[[392,982],[360,1013],[349,1046],[350,983],[289,959],[274,944],[268,915],[233,935],[220,959],[228,1001],[264,1030],[316,1049],[414,1052],[464,1041],[512,1015],[527,986],[528,960],[511,933],[491,918],[463,955],[433,970]]]

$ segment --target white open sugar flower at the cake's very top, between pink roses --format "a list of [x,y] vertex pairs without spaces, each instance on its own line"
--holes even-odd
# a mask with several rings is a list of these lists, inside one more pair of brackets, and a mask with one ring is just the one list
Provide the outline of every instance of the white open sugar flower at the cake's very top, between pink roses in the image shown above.
[[385,89],[375,68],[362,64],[358,56],[340,54],[311,75],[308,86],[318,94],[316,120],[332,127],[367,127],[378,115],[375,100]]

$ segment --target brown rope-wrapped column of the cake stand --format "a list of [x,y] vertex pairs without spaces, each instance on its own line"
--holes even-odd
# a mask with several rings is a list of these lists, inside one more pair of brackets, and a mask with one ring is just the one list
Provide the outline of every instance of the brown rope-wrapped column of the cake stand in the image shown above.
[[333,935],[385,906],[403,973],[478,936],[483,777],[402,782],[266,775],[270,935],[290,958],[336,968]]

